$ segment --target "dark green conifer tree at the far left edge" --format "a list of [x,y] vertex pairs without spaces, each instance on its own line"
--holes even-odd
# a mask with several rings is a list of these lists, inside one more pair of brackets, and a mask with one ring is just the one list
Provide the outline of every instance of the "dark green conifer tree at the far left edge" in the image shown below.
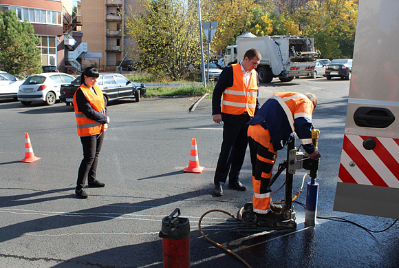
[[23,77],[41,72],[40,39],[28,21],[19,21],[14,10],[0,12],[0,69]]

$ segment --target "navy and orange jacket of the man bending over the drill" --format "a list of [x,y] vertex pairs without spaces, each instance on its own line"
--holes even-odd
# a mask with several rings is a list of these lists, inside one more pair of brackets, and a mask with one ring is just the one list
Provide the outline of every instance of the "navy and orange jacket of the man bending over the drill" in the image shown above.
[[313,103],[298,92],[277,92],[257,112],[248,124],[260,124],[269,130],[275,151],[281,150],[294,138],[294,132],[301,140],[303,149],[314,152],[312,144]]

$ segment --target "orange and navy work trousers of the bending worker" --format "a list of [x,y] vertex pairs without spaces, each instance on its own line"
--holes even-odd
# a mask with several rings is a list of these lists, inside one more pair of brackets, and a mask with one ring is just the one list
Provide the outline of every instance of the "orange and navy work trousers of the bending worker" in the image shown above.
[[252,163],[252,185],[254,191],[252,203],[254,212],[267,214],[270,212],[270,202],[272,201],[272,190],[269,183],[270,178],[272,178],[277,152],[274,152],[269,131],[259,124],[248,127],[248,144]]

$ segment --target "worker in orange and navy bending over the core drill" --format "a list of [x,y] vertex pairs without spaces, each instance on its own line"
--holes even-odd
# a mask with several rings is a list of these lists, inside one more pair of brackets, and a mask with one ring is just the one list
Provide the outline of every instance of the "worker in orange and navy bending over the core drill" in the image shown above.
[[310,158],[320,158],[320,153],[314,150],[312,144],[312,112],[316,105],[317,98],[312,93],[278,92],[248,122],[254,191],[252,204],[258,218],[282,218],[282,207],[270,205],[272,191],[269,183],[277,151],[292,141],[294,132]]

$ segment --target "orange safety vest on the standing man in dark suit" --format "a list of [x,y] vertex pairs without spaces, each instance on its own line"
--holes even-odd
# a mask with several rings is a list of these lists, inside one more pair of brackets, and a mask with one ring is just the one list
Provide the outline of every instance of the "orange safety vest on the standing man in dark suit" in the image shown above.
[[222,112],[254,116],[257,106],[257,72],[252,70],[248,87],[242,74],[241,64],[233,64],[233,85],[223,92]]

